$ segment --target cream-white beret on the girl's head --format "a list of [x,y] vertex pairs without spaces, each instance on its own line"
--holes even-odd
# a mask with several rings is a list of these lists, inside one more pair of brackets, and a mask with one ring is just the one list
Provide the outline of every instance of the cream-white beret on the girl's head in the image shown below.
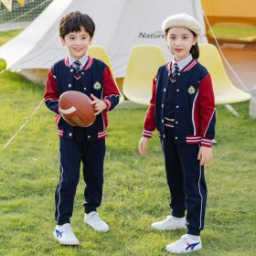
[[201,33],[201,25],[193,16],[188,16],[187,14],[178,14],[174,16],[168,16],[165,18],[162,24],[164,32],[170,27],[186,27],[196,35],[200,35]]

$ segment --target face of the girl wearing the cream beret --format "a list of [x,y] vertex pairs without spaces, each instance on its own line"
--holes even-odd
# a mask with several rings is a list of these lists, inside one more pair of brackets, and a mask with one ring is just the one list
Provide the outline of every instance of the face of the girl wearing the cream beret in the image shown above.
[[165,40],[176,61],[187,58],[190,49],[197,43],[197,37],[186,27],[169,28]]

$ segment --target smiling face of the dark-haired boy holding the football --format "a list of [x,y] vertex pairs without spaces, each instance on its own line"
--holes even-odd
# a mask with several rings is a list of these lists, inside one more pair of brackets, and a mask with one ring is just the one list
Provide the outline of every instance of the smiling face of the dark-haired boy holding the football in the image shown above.
[[74,59],[80,59],[91,45],[92,37],[85,31],[84,27],[80,27],[79,32],[70,32],[64,38],[60,37],[60,40],[62,46],[68,48],[69,54]]

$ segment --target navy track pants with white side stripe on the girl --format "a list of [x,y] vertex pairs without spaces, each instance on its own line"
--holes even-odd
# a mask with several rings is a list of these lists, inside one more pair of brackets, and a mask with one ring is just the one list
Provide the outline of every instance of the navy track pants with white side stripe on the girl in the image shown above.
[[166,128],[162,150],[172,215],[182,218],[187,210],[187,233],[198,236],[204,228],[207,203],[204,166],[197,160],[199,144],[175,144],[173,129]]

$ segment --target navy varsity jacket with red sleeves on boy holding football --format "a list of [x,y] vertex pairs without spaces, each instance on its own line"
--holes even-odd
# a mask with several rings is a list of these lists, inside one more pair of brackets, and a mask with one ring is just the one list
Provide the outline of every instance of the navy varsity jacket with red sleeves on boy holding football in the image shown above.
[[[48,80],[44,93],[44,101],[48,109],[56,113],[55,123],[59,137],[72,138],[74,127],[67,123],[59,114],[59,96],[65,91],[73,90],[73,68],[69,59],[62,59],[55,63],[48,71]],[[107,113],[112,111],[119,102],[120,93],[112,79],[108,66],[100,59],[90,56],[81,70],[82,92],[90,96],[91,93],[98,99],[105,101],[107,109],[97,115],[96,121],[87,127],[87,140],[95,141],[106,136],[108,125]]]

